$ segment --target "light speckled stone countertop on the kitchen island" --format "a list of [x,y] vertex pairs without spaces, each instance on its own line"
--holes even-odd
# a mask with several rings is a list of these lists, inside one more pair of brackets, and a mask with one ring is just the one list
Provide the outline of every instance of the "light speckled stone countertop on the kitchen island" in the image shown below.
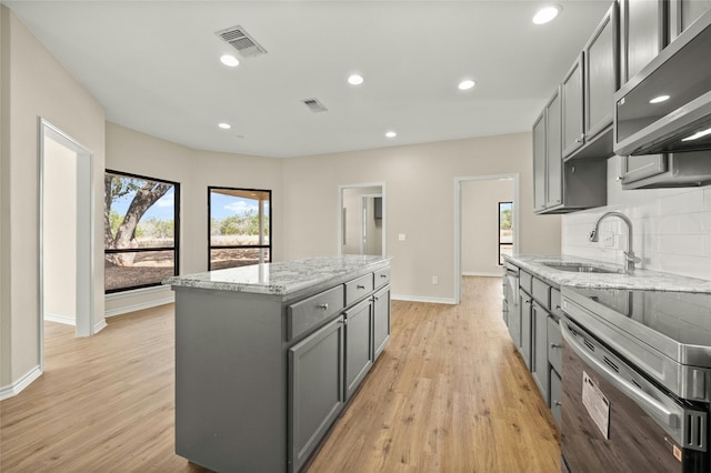
[[173,290],[198,288],[287,296],[340,284],[384,268],[389,262],[390,256],[319,256],[177,275],[167,279],[163,284],[170,284]]

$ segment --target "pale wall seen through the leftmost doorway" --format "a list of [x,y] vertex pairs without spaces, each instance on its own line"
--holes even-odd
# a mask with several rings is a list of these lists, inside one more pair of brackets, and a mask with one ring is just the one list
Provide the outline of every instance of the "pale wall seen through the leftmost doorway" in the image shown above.
[[77,322],[77,153],[44,138],[44,319]]

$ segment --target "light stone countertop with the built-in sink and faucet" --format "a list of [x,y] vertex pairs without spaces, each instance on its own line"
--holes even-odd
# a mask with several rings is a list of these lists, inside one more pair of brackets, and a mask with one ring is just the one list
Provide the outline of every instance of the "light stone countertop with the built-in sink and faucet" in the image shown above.
[[[548,280],[548,282],[552,282],[561,286],[711,293],[711,281],[643,269],[635,269],[631,274],[625,274],[622,266],[585,258],[564,254],[514,254],[512,256],[504,255],[504,259],[541,279]],[[581,262],[599,268],[620,271],[620,273],[579,273],[561,271],[547,266],[544,264],[545,262]]]

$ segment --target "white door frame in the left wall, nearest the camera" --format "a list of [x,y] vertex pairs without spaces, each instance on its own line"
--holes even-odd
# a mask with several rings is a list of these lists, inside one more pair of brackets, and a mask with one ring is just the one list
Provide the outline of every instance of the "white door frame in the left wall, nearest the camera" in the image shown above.
[[94,199],[93,199],[93,153],[58,127],[43,118],[38,120],[39,143],[39,350],[40,370],[44,364],[44,139],[51,138],[77,153],[77,281],[76,336],[94,333]]

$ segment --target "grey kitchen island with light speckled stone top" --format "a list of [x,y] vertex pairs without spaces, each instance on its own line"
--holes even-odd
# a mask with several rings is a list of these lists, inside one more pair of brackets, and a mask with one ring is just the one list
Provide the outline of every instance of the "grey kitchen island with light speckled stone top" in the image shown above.
[[390,260],[322,256],[170,278],[176,453],[299,471],[390,339]]

